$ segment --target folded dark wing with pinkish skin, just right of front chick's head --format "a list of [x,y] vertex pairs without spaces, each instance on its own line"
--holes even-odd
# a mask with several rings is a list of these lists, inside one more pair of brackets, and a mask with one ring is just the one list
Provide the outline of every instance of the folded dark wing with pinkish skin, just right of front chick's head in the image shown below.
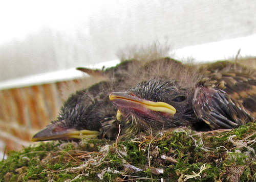
[[240,102],[225,91],[211,86],[195,89],[193,109],[197,117],[212,129],[234,128],[253,120]]

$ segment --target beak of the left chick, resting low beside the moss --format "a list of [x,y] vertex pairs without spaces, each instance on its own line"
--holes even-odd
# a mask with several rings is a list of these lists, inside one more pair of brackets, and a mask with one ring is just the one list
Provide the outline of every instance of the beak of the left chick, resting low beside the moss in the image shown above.
[[81,138],[97,137],[98,131],[80,130],[74,128],[68,129],[60,125],[59,122],[48,125],[45,129],[35,134],[31,141],[46,141],[46,140],[74,140]]

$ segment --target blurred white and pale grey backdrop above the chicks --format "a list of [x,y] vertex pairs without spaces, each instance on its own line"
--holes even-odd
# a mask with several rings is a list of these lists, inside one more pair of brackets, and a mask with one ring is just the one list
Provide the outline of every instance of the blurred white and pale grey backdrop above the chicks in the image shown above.
[[229,59],[240,48],[240,57],[256,56],[255,12],[254,0],[1,1],[0,88],[115,65],[120,49],[154,41],[178,59]]

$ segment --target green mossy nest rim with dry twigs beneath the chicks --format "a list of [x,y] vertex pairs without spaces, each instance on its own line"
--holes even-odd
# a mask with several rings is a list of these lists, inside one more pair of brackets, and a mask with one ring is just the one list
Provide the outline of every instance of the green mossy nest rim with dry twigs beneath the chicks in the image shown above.
[[120,141],[50,141],[10,151],[1,181],[254,181],[256,123],[195,132],[180,127]]

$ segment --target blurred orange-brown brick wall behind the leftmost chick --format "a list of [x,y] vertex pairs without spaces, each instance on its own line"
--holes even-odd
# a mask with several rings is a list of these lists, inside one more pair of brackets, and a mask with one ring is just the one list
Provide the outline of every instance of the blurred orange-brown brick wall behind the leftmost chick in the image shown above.
[[66,83],[0,90],[0,141],[5,145],[0,150],[35,144],[32,136],[56,119],[62,103],[60,90]]

